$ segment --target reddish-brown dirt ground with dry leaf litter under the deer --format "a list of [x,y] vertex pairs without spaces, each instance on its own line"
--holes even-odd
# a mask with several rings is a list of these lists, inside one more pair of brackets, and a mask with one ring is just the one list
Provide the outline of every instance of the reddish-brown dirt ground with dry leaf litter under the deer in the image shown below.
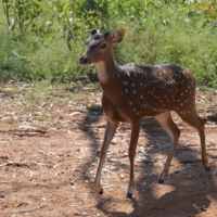
[[33,91],[28,85],[4,85],[0,90],[0,217],[217,216],[217,122],[210,115],[217,112],[217,92],[196,94],[199,114],[208,119],[210,170],[201,163],[196,131],[173,114],[181,136],[168,179],[158,184],[170,139],[154,118],[143,119],[129,200],[128,124],[119,126],[110,145],[104,193],[93,189],[106,120],[99,90],[50,87],[37,103],[36,95],[34,101],[27,98]]

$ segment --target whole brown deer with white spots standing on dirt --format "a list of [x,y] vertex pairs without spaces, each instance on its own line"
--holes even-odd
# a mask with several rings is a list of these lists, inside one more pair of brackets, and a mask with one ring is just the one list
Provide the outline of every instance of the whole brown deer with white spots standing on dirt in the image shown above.
[[182,120],[194,127],[201,139],[202,162],[209,169],[205,150],[204,120],[195,111],[195,79],[193,74],[178,64],[141,66],[135,63],[118,65],[112,48],[125,37],[125,29],[113,35],[92,29],[86,42],[86,52],[79,59],[81,65],[94,64],[102,88],[102,107],[107,117],[104,140],[100,153],[100,164],[94,179],[98,193],[102,194],[101,173],[108,145],[119,122],[131,125],[129,144],[130,176],[127,197],[132,196],[133,161],[140,125],[143,117],[155,117],[171,139],[168,157],[159,176],[158,183],[167,177],[180,130],[171,119],[170,111],[177,112]]

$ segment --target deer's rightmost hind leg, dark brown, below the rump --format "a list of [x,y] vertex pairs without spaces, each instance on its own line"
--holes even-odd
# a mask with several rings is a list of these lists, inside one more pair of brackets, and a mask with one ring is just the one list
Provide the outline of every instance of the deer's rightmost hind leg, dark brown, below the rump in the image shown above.
[[178,115],[181,117],[183,122],[188,123],[189,125],[191,125],[193,128],[197,130],[200,139],[201,139],[202,163],[205,169],[208,171],[209,165],[208,165],[208,159],[206,155],[205,133],[204,133],[205,120],[199,117],[195,111],[191,113],[187,113],[187,112],[178,113]]

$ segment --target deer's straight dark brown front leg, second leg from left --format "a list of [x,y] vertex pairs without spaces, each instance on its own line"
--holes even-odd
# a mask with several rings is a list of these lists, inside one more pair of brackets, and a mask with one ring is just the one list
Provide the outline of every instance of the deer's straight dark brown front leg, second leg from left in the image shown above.
[[132,197],[132,191],[133,191],[135,155],[139,138],[140,125],[141,120],[137,123],[135,122],[132,124],[131,140],[129,145],[130,176],[129,176],[129,186],[127,191],[128,199]]

